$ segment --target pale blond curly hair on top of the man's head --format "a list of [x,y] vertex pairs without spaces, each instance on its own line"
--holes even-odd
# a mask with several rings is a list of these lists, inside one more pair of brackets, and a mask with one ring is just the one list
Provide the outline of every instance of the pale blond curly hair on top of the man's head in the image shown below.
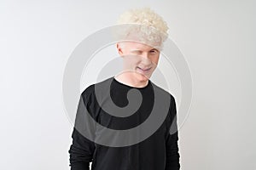
[[[168,26],[163,18],[150,8],[136,8],[119,15],[118,25],[122,29],[116,32],[123,40],[137,40],[156,48],[162,48],[168,37]],[[129,39],[131,40],[131,39]]]

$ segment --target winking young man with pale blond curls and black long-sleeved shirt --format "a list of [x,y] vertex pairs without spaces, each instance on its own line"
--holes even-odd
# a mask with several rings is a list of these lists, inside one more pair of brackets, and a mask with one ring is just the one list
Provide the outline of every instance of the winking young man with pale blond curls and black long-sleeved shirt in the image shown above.
[[[69,150],[71,169],[89,170],[92,162],[92,170],[177,170],[180,163],[175,99],[149,79],[158,65],[168,27],[149,8],[122,14],[119,24],[135,24],[122,29],[124,34],[119,36],[127,41],[118,42],[116,46],[124,60],[124,70],[90,85],[81,94]],[[132,89],[139,91],[142,98],[130,95]],[[111,106],[111,110],[109,105],[118,109]],[[127,105],[131,106],[130,110]],[[125,107],[126,110],[119,109]],[[86,115],[98,124],[87,122]],[[156,117],[149,122],[148,130],[141,127],[121,135],[126,129],[134,130],[146,124],[152,115]],[[160,125],[152,131],[158,122]],[[170,133],[172,125],[175,133]]]

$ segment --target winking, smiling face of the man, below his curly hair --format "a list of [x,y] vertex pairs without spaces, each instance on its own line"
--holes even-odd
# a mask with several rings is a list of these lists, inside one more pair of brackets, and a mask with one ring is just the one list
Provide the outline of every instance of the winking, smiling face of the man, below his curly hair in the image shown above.
[[119,55],[124,59],[124,71],[138,81],[147,81],[156,68],[160,51],[140,42],[117,43]]

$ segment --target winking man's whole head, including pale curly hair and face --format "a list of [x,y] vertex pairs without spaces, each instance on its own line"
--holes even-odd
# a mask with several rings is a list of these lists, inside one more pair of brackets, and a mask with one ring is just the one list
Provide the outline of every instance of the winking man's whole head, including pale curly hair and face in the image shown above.
[[116,47],[124,58],[124,70],[140,79],[149,79],[158,65],[160,50],[168,27],[150,8],[131,9],[119,16],[119,39]]

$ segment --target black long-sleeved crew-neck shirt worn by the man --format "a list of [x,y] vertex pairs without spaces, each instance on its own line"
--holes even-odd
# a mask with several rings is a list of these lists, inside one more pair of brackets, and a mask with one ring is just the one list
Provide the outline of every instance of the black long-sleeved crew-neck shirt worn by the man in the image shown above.
[[[137,100],[127,97],[131,89],[137,89],[142,94],[141,103],[133,114],[122,116],[120,111],[115,113],[119,115],[114,115],[108,112],[110,110],[104,109],[106,105],[111,105],[107,101],[112,101],[113,105],[124,108],[131,104],[131,100]],[[160,97],[156,98],[156,96]],[[116,136],[111,136],[108,139],[108,144],[113,142],[113,145],[97,142],[100,141],[102,134],[108,135],[107,131],[102,131],[99,125],[117,131],[139,127],[148,120],[153,109],[155,109],[155,99],[160,100],[158,107],[161,107],[160,103],[164,103],[161,99],[168,99],[168,97],[169,103],[166,116],[163,121],[158,120],[158,118],[155,119],[155,122],[161,123],[159,126],[156,126],[158,128],[154,130],[154,133],[147,138],[130,144],[128,141],[131,138],[125,136],[123,143],[127,141],[127,145],[116,145],[118,144],[114,143]],[[139,99],[136,102],[139,102]],[[156,111],[159,111],[157,112],[159,114],[158,117],[165,115],[161,113],[159,108],[156,108]],[[179,169],[176,115],[176,103],[172,94],[159,88],[150,80],[143,88],[128,86],[118,82],[114,77],[90,85],[84,89],[79,99],[76,122],[72,133],[73,144],[71,144],[70,150],[68,150],[71,169],[89,170],[90,161],[92,161],[92,170]],[[94,121],[88,121],[89,117]],[[152,125],[154,126],[154,124]],[[171,128],[174,133],[170,133]],[[173,131],[173,129],[176,130]]]

